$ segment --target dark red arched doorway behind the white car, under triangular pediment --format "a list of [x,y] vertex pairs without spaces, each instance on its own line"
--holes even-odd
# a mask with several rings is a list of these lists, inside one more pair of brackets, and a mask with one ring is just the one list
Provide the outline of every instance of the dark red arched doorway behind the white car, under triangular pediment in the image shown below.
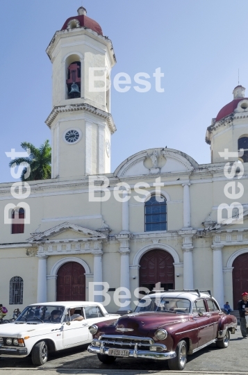
[[85,269],[68,262],[58,269],[57,301],[85,301]]

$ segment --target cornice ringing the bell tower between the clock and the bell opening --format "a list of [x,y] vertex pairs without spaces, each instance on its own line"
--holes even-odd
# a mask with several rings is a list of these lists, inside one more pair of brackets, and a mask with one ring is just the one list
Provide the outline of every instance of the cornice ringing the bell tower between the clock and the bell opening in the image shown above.
[[86,110],[87,112],[92,113],[93,115],[97,115],[103,119],[106,119],[111,134],[115,133],[115,131],[117,130],[115,123],[113,121],[113,117],[110,113],[105,112],[104,110],[99,110],[99,108],[90,106],[90,104],[87,103],[53,107],[53,110],[51,111],[49,117],[47,117],[45,123],[49,128],[51,128],[51,124],[53,123],[54,119],[56,119],[59,113],[74,112],[77,110]]

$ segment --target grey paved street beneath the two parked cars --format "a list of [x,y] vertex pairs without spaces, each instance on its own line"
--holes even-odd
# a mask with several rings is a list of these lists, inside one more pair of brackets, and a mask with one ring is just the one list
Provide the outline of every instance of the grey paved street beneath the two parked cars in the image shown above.
[[[248,374],[247,363],[248,339],[242,339],[240,330],[231,335],[227,349],[217,349],[215,345],[203,349],[188,357],[184,374],[191,372],[201,374],[232,373]],[[160,374],[169,372],[167,362],[155,360],[124,360],[117,358],[113,365],[107,366],[99,362],[94,354],[87,351],[87,345],[77,349],[68,349],[60,353],[51,353],[49,361],[42,367],[35,368],[31,358],[1,358],[1,375],[45,375],[56,374]],[[170,372],[170,374],[174,374]]]

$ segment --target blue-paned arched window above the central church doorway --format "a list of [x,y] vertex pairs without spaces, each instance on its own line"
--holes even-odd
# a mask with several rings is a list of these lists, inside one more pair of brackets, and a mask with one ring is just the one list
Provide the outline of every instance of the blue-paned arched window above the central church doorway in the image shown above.
[[152,195],[144,210],[146,232],[167,230],[166,199],[163,195]]

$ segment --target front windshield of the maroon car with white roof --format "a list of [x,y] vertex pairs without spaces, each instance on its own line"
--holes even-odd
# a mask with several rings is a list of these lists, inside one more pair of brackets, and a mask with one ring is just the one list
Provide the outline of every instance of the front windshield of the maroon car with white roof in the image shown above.
[[181,298],[144,298],[140,299],[138,306],[135,308],[135,313],[145,311],[161,311],[165,313],[190,313],[190,301]]

